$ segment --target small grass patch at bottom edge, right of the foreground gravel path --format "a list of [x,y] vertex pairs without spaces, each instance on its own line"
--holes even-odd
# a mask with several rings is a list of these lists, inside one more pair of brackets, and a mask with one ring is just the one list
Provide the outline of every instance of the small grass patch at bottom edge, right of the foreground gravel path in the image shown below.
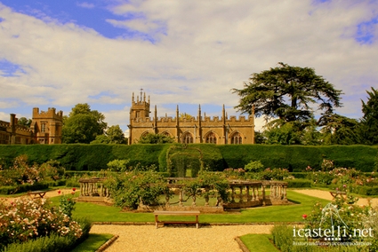
[[269,240],[269,234],[245,234],[240,237],[245,247],[253,252],[279,251]]

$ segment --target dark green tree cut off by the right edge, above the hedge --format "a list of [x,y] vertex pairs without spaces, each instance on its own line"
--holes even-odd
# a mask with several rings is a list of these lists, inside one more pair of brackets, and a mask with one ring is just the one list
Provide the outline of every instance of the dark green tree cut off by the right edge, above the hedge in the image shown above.
[[369,95],[367,102],[362,101],[360,136],[366,145],[378,144],[378,90],[366,91]]

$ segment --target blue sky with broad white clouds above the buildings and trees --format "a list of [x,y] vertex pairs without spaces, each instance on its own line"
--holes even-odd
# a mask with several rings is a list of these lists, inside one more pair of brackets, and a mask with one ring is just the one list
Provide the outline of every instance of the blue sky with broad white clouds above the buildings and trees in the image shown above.
[[239,115],[231,90],[278,62],[314,68],[343,92],[335,112],[361,118],[378,88],[378,0],[0,0],[6,122],[88,103],[126,131],[141,89],[159,117]]

